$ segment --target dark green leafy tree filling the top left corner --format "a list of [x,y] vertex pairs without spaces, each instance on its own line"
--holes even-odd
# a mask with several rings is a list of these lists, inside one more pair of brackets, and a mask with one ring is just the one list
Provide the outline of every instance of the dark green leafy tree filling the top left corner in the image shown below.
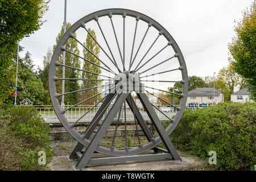
[[14,85],[8,85],[6,80],[15,76],[12,59],[16,59],[18,41],[39,30],[43,24],[40,3],[47,5],[48,1],[0,0],[0,104],[14,91]]

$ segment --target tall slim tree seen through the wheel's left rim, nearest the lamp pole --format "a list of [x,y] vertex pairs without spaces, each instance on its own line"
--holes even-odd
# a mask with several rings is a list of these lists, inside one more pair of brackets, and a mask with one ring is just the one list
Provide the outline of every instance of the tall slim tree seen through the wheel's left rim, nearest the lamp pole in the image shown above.
[[[67,30],[71,27],[71,23],[67,23]],[[62,38],[64,34],[64,23],[61,27],[60,33],[57,35],[56,43],[59,42],[59,40]],[[74,33],[76,38],[76,33]],[[53,50],[55,49],[56,45],[53,46]],[[77,41],[75,39],[68,39],[68,41],[65,44],[65,48],[68,51],[71,51],[75,53],[76,55],[79,55],[79,49],[77,47]],[[60,54],[59,57],[59,63],[63,64],[63,54]],[[66,52],[65,54],[65,65],[80,68],[81,61],[79,60],[79,57],[72,55],[71,53]],[[56,76],[59,78],[62,78],[62,70],[63,67],[57,67]],[[79,78],[80,74],[77,72],[76,69],[71,68],[65,68],[65,78]],[[62,80],[56,81],[56,90],[57,93],[62,93]],[[79,90],[79,82],[77,80],[67,80],[65,81],[65,93],[72,92],[75,90]],[[59,97],[61,101],[61,97]],[[69,102],[69,105],[77,104],[78,100],[78,94],[72,93],[65,96],[65,104]]]

